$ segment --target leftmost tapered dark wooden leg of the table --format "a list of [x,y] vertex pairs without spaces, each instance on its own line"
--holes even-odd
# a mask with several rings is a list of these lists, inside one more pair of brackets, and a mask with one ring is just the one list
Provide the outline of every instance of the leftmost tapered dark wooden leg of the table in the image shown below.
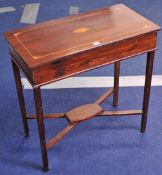
[[26,108],[25,108],[23,88],[22,88],[21,77],[20,77],[20,70],[13,60],[12,60],[12,67],[13,67],[13,73],[15,78],[15,84],[16,84],[16,89],[17,89],[17,94],[19,99],[19,105],[21,110],[25,136],[29,136],[29,128],[28,128],[28,121],[26,118]]

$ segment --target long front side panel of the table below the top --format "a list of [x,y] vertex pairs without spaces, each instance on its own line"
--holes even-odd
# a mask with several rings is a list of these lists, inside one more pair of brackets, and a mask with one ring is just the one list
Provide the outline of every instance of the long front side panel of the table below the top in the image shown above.
[[35,84],[48,84],[119,60],[156,49],[156,33],[145,34],[114,44],[65,57],[33,70]]

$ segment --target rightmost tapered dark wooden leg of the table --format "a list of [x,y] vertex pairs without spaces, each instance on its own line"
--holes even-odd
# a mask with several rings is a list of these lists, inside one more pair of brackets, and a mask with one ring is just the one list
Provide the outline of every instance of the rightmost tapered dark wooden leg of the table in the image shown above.
[[147,123],[147,113],[149,106],[149,97],[151,89],[152,71],[154,63],[155,51],[147,53],[147,64],[146,64],[146,74],[145,74],[145,87],[144,87],[144,97],[143,97],[143,115],[141,120],[141,132],[145,132]]

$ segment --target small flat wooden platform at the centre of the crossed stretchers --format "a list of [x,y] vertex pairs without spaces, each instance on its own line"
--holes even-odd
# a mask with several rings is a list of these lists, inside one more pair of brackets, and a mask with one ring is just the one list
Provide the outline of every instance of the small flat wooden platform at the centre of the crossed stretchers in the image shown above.
[[103,111],[101,106],[96,103],[86,104],[79,106],[67,112],[65,115],[70,124],[78,123],[84,120],[88,120]]

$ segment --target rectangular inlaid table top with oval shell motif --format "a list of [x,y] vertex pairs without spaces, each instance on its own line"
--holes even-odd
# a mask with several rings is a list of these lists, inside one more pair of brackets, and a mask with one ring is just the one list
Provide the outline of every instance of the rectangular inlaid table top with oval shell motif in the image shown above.
[[123,4],[5,32],[29,68],[76,53],[158,31],[160,27]]

